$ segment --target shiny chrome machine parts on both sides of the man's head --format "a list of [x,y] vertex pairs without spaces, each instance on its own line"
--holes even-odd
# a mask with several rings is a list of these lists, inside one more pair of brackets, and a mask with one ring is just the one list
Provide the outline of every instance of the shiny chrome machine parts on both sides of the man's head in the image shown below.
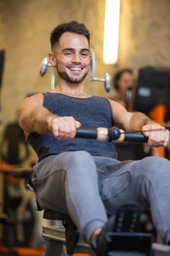
[[[91,77],[91,81],[102,81],[105,83],[105,90],[109,92],[111,90],[111,76],[109,73],[105,74],[105,78],[96,78],[94,77],[95,73],[95,67],[96,67],[96,60],[95,60],[95,54],[94,50],[90,48],[90,54],[91,54],[91,62],[90,62],[90,68],[89,68],[89,74]],[[43,61],[40,65],[40,76],[44,76],[45,73],[47,72],[47,67],[52,67],[52,74],[51,74],[51,90],[53,90],[56,87],[56,70],[51,64],[48,63],[48,58],[45,57],[43,58]]]

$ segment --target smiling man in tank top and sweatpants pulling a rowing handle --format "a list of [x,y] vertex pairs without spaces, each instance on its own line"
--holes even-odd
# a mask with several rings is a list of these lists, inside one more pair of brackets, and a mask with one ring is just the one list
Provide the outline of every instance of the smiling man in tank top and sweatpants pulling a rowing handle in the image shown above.
[[80,126],[114,124],[127,131],[142,129],[148,144],[158,147],[167,145],[169,131],[142,113],[128,113],[117,102],[84,92],[91,59],[84,24],[60,24],[50,41],[48,57],[57,70],[57,87],[24,99],[18,110],[20,125],[39,157],[32,182],[40,207],[69,214],[91,243],[107,226],[107,214],[133,200],[153,209],[154,224],[168,243],[170,162],[159,157],[119,162],[113,143],[74,137]]

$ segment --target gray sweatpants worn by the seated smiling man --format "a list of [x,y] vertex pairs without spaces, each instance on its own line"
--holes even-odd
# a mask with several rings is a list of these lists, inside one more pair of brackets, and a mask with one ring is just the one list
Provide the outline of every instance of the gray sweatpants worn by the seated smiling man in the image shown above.
[[[41,163],[41,162],[40,162]],[[72,151],[48,157],[32,178],[42,209],[69,214],[89,242],[119,204],[151,208],[164,243],[170,240],[170,161],[146,157],[124,161]]]

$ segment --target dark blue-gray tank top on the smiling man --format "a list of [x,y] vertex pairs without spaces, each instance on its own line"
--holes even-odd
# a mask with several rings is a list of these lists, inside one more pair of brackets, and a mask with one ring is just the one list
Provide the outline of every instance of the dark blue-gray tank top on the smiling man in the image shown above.
[[[62,93],[47,92],[43,94],[43,106],[45,108],[59,116],[73,116],[74,119],[81,122],[82,128],[110,128],[113,126],[111,104],[104,97],[76,98]],[[27,141],[37,153],[38,162],[48,156],[79,150],[85,150],[92,156],[117,159],[117,152],[113,142],[82,138],[57,140],[53,133],[40,135],[36,132],[30,133]]]

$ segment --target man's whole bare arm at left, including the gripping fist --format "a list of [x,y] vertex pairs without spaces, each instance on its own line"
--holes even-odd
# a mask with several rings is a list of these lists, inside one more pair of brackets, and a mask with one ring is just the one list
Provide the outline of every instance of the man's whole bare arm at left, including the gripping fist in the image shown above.
[[[26,137],[31,132],[54,134],[59,140],[71,140],[81,126],[73,116],[57,116],[43,107],[43,94],[36,94],[23,100],[18,108],[19,123]],[[56,102],[57,104],[57,102]]]

